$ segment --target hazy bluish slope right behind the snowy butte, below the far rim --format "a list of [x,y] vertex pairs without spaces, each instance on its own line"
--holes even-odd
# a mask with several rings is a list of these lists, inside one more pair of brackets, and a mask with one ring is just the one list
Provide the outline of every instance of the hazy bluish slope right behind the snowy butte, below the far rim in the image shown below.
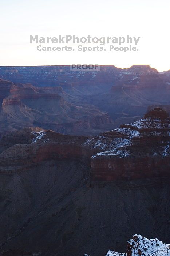
[[145,87],[138,84],[119,84],[103,94],[92,95],[89,101],[106,111],[119,126],[128,121],[136,121],[146,113],[149,105],[170,105],[170,87],[152,81]]

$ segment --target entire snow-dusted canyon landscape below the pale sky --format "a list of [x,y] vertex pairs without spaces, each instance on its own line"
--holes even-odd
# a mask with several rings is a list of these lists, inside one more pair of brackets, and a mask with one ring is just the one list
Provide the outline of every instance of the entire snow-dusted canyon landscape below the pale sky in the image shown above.
[[0,208],[2,256],[168,255],[169,71],[0,67]]

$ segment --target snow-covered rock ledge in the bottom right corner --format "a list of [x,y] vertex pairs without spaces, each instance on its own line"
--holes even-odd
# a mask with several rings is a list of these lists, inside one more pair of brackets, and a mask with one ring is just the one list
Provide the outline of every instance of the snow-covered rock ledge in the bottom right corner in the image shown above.
[[[90,255],[84,254],[83,256]],[[126,253],[108,251],[106,256],[170,256],[170,244],[163,244],[157,238],[149,240],[135,234],[127,241]]]

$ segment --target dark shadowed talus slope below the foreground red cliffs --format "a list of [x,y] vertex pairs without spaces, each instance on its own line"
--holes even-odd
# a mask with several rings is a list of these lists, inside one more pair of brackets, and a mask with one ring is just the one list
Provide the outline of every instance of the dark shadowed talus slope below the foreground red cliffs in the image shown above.
[[77,161],[46,161],[1,174],[1,250],[102,256],[108,248],[125,251],[135,232],[169,241],[169,184],[87,188],[86,168]]

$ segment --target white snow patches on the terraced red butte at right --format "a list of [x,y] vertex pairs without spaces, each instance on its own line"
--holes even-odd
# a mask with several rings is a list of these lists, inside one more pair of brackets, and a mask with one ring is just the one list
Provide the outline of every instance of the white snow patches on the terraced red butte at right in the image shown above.
[[[147,130],[145,130],[147,129]],[[155,129],[155,130],[154,130]],[[101,152],[92,156],[116,156],[128,157],[130,151],[126,146],[129,146],[132,138],[136,137],[150,137],[150,136],[170,136],[170,120],[163,121],[160,118],[142,118],[132,124],[124,124],[123,128],[117,128],[106,133],[89,138],[84,145],[88,145],[92,148],[98,148]],[[163,157],[170,155],[170,145],[161,147],[161,152],[156,153],[153,151],[153,155],[161,154]]]

